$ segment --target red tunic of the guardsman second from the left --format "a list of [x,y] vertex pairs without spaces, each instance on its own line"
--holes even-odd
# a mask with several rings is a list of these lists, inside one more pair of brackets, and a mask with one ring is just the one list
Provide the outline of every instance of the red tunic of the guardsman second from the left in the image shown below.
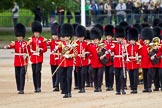
[[[36,38],[35,36],[31,37],[29,41],[30,49],[30,60],[33,64],[43,62],[43,53],[47,51],[46,39],[42,36]],[[41,49],[41,52],[39,50]]]

